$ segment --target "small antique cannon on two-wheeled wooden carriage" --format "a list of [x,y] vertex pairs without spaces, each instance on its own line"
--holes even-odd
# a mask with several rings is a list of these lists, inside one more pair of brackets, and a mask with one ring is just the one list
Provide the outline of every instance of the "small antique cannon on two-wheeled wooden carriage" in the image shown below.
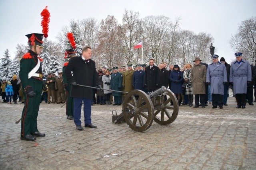
[[[164,96],[169,96],[164,101]],[[173,106],[170,106],[172,100]],[[153,120],[160,125],[172,123],[178,116],[179,105],[176,96],[166,87],[146,94],[142,90],[132,90],[124,98],[122,113],[117,115],[112,111],[112,122],[126,122],[129,127],[137,132],[146,131]]]

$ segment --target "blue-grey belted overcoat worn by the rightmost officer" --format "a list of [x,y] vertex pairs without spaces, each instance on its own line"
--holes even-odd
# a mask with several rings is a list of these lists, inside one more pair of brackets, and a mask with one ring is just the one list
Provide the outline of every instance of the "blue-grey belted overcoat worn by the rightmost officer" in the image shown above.
[[231,63],[229,81],[233,82],[234,94],[247,93],[247,81],[252,80],[252,70],[248,61],[242,60],[240,64],[237,61]]

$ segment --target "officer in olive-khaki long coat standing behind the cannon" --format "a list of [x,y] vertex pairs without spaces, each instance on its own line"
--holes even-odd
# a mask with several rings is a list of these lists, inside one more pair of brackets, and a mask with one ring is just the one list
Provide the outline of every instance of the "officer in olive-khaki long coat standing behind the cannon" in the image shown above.
[[133,90],[132,87],[132,76],[134,70],[132,70],[132,64],[127,64],[128,70],[124,72],[123,80],[122,80],[122,87],[124,88],[124,92],[130,92]]

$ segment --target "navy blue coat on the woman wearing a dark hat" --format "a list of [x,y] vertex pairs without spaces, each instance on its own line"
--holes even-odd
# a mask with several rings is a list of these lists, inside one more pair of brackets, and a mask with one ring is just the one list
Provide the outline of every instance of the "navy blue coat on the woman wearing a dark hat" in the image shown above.
[[170,80],[172,81],[171,91],[174,94],[182,93],[183,72],[173,70],[170,74]]

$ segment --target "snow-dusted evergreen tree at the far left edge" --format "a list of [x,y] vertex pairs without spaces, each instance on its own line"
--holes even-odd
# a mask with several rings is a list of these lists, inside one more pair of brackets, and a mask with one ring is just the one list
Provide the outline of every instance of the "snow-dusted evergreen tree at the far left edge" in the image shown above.
[[11,59],[10,59],[10,53],[9,50],[6,49],[4,51],[4,58],[2,58],[2,61],[0,63],[0,79],[6,79],[11,80],[12,76],[14,75],[11,71]]

